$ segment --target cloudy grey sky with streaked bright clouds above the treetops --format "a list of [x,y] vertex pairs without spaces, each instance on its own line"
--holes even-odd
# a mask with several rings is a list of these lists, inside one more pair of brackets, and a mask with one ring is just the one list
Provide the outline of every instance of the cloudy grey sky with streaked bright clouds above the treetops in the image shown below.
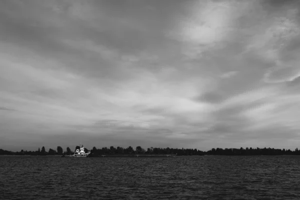
[[300,147],[298,0],[1,0],[0,148]]

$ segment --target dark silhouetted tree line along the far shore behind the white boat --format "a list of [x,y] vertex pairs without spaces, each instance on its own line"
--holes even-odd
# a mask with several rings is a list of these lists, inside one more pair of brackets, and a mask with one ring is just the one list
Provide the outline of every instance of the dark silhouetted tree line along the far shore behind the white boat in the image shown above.
[[[75,147],[75,150],[80,148],[79,146]],[[88,149],[84,148],[85,152],[88,152]],[[8,151],[0,149],[0,155],[62,155],[62,154],[73,154],[74,152],[66,147],[66,150],[63,151],[61,146],[57,146],[56,150],[49,148],[48,151],[45,150],[45,147],[42,146],[41,149],[38,148],[36,151]],[[90,149],[92,155],[102,155],[102,154],[177,154],[177,155],[300,155],[298,148],[295,150],[290,149],[275,149],[275,148],[211,148],[208,151],[201,151],[196,148],[157,148],[149,147],[142,148],[141,146],[128,146],[126,148],[117,146],[102,147],[96,148],[95,146]]]

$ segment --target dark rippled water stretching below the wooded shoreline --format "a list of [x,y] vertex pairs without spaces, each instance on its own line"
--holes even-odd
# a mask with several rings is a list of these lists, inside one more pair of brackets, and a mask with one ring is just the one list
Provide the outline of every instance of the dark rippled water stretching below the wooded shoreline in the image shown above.
[[1,199],[300,199],[300,156],[0,156]]

